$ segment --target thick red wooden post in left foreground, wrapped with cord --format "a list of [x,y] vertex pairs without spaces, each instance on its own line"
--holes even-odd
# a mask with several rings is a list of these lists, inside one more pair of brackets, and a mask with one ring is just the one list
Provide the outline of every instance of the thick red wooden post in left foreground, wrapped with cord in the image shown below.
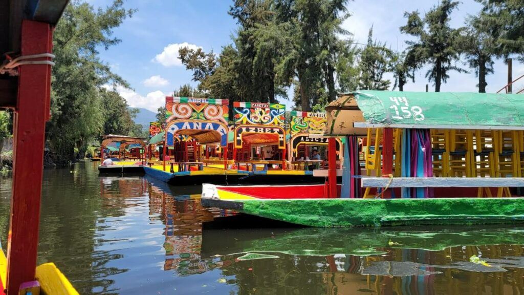
[[[24,20],[21,54],[50,53],[49,24]],[[13,197],[7,244],[7,294],[18,294],[21,283],[35,279],[43,146],[49,117],[51,66],[19,68],[17,109],[14,113]]]

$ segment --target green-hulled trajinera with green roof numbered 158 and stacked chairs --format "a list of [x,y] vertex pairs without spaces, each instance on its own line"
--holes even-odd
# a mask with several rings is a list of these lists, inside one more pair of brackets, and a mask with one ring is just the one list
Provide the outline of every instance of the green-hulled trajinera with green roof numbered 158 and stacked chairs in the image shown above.
[[326,107],[328,152],[346,144],[325,185],[204,184],[202,205],[317,227],[524,222],[522,98],[345,93]]

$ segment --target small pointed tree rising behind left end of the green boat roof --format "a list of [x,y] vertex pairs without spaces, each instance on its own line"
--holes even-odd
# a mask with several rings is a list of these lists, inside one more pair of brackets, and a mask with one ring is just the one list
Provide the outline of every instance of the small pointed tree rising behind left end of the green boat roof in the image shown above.
[[390,51],[386,44],[373,41],[373,27],[369,29],[367,45],[362,50],[359,62],[361,77],[358,83],[359,89],[365,90],[386,90],[391,81],[384,80],[384,74],[389,68]]

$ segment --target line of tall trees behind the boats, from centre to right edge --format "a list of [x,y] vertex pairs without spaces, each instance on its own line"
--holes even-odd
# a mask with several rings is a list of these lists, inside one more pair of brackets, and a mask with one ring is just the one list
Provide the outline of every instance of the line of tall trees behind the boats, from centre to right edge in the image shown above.
[[[198,82],[191,91],[200,96],[292,99],[302,111],[322,109],[337,92],[403,91],[423,67],[438,92],[451,71],[468,72],[461,63],[476,73],[478,91],[485,92],[496,58],[524,60],[524,3],[476,1],[483,8],[459,28],[450,26],[457,1],[441,0],[424,15],[406,12],[399,33],[413,38],[406,50],[396,51],[374,39],[373,28],[366,44],[355,43],[342,27],[351,17],[348,0],[234,0],[228,13],[238,29],[231,44],[219,54],[181,48],[179,58]],[[385,79],[386,73],[394,80]],[[291,98],[289,89],[294,89]]]

